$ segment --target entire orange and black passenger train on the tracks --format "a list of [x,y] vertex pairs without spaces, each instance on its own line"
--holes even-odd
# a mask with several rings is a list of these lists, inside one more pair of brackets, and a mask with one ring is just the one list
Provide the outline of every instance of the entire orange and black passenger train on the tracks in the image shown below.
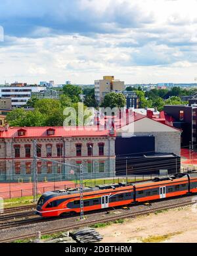
[[[197,172],[179,173],[133,183],[85,187],[83,188],[83,211],[132,205],[196,192]],[[36,214],[41,217],[63,217],[74,213],[80,213],[78,188],[46,192],[37,202]]]

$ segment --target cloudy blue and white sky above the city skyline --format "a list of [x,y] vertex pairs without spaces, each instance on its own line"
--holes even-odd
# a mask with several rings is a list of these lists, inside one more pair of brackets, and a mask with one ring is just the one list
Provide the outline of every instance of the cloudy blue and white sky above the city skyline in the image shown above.
[[0,84],[192,83],[196,10],[197,0],[0,1]]

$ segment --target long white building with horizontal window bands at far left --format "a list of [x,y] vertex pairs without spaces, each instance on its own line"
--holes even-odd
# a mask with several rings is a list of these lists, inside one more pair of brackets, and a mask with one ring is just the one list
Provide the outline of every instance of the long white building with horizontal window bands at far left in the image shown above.
[[43,90],[41,86],[28,86],[26,84],[11,84],[11,86],[0,87],[0,97],[11,98],[12,108],[24,107],[31,98],[32,92]]

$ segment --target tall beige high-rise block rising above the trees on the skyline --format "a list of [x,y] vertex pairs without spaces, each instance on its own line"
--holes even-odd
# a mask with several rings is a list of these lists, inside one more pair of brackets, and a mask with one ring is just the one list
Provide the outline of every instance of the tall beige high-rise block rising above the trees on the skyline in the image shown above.
[[95,80],[95,98],[100,104],[104,96],[111,91],[123,91],[125,89],[125,82],[114,80],[114,76],[103,76],[102,80]]

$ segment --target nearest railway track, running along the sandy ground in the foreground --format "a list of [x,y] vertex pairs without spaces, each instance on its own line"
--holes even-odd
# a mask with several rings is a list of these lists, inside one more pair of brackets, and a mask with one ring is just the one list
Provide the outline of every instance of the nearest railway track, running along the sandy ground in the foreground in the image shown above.
[[[106,218],[97,218],[97,220],[82,220],[81,222],[76,222],[75,224],[68,224],[68,222],[65,222],[65,226],[61,226],[60,228],[49,228],[47,231],[42,232],[42,235],[46,235],[46,234],[53,234],[56,232],[62,232],[62,231],[68,231],[68,230],[73,230],[75,228],[81,228],[83,226],[91,226],[93,224],[97,224],[97,223],[104,223],[104,222],[112,222],[115,220],[118,220],[120,218],[135,218],[137,216],[140,215],[147,215],[148,213],[155,213],[157,211],[163,211],[166,209],[174,209],[177,207],[185,207],[187,205],[192,205],[194,204],[194,202],[190,201],[186,201],[186,202],[182,202],[182,203],[171,203],[169,205],[165,205],[165,206],[160,206],[160,207],[154,207],[154,208],[149,208],[146,210],[142,210],[142,211],[138,211],[136,213],[124,213],[121,215],[116,215],[116,216],[110,216],[110,217],[106,217]],[[29,223],[30,224],[30,223]],[[15,240],[26,240],[26,239],[30,239],[30,238],[35,238],[36,233],[32,232],[30,234],[26,234],[23,236],[16,236],[16,237],[12,237],[12,238],[5,238],[5,239],[0,239],[1,243],[8,243],[8,242],[13,242]]]

